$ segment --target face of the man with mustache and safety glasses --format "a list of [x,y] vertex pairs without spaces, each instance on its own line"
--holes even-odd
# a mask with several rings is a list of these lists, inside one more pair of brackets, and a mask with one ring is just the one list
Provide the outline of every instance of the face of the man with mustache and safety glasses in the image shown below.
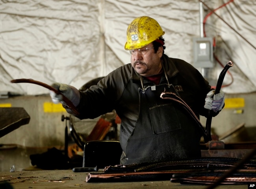
[[163,48],[160,46],[158,51],[155,53],[154,48],[152,47],[153,44],[150,43],[139,50],[131,51],[132,67],[138,74],[141,74],[142,76],[156,75],[161,71],[161,57]]

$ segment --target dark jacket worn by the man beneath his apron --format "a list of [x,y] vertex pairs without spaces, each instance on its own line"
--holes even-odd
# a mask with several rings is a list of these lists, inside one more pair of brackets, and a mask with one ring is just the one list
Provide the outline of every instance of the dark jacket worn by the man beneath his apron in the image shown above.
[[[204,103],[211,86],[200,72],[186,61],[170,58],[165,54],[162,63],[169,83],[175,86],[180,97],[197,116],[207,117],[208,109],[204,108]],[[144,87],[154,85],[145,78],[143,83]],[[167,83],[164,74],[161,83]],[[80,104],[77,107],[80,111],[79,118],[93,119],[115,109],[122,120],[120,141],[121,144],[125,144],[139,115],[139,87],[141,88],[140,76],[132,65],[129,63],[119,67],[100,80],[97,85],[80,93]]]

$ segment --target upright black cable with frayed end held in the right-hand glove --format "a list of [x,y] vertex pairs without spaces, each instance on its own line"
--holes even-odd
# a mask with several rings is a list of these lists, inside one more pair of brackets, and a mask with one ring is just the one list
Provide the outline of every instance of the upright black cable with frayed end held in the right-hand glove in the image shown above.
[[[221,85],[223,83],[226,72],[232,66],[233,66],[233,62],[230,60],[228,63],[226,63],[226,65],[224,66],[224,69],[219,74],[219,78],[218,78],[218,81],[217,81],[217,85],[216,85],[216,88],[215,88],[214,95],[218,94],[221,91]],[[206,133],[207,133],[208,138],[210,139],[210,141],[211,141],[211,120],[212,120],[212,110],[209,110],[208,111],[208,117],[206,119]]]

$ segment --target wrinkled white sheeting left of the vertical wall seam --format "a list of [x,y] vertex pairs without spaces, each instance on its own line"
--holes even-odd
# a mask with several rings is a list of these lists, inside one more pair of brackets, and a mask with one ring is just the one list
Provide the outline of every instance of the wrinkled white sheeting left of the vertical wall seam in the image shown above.
[[95,2],[2,3],[1,89],[38,95],[48,90],[31,84],[10,84],[9,81],[32,78],[48,84],[77,82],[76,87],[81,87],[82,79],[101,75],[101,23],[99,6]]

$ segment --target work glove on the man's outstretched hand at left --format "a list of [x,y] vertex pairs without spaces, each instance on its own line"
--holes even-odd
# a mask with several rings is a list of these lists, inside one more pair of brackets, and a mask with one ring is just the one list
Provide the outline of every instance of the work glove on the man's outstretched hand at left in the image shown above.
[[[78,89],[71,85],[63,83],[53,83],[51,86],[54,87],[56,90],[60,91],[64,96],[66,96],[70,100],[70,102],[74,104],[74,106],[78,106],[80,102],[80,93]],[[54,93],[54,91],[50,91],[50,96],[54,104],[61,103],[63,104],[63,107],[66,109],[68,113],[72,113],[72,110],[70,110],[67,107],[66,103],[63,102],[62,95],[57,95],[56,93]]]

